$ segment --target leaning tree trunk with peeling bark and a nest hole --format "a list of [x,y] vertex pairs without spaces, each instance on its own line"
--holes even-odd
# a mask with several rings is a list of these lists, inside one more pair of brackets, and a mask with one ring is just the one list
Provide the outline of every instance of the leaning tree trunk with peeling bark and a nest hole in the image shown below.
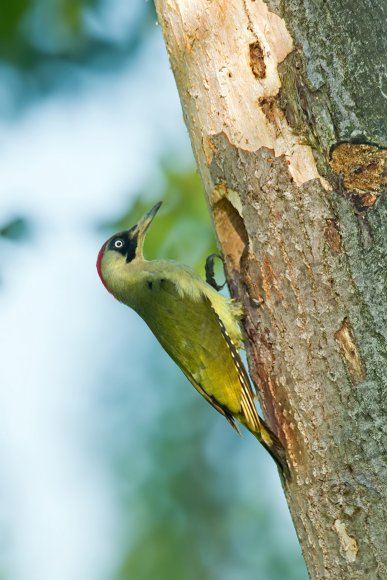
[[387,578],[383,4],[156,0],[312,578]]

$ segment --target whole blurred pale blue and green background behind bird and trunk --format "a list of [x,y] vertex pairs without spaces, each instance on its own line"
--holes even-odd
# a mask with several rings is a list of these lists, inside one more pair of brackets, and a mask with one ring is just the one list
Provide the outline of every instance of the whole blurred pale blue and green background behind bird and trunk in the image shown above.
[[269,456],[114,301],[98,250],[216,248],[152,2],[0,7],[0,579],[303,580]]

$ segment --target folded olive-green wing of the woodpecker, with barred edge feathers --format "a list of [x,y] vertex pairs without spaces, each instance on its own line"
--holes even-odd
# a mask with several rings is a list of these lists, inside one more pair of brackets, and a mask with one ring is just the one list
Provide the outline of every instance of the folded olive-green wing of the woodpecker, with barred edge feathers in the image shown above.
[[140,315],[192,385],[234,427],[232,416],[259,427],[246,370],[207,296],[182,296],[174,281],[162,279],[148,298]]

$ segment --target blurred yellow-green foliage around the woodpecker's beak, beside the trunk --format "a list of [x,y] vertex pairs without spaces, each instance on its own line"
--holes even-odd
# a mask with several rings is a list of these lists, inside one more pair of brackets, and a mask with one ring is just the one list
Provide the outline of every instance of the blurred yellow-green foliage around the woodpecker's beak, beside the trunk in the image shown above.
[[103,227],[110,232],[129,229],[162,200],[145,240],[145,255],[184,262],[203,274],[206,257],[216,252],[216,241],[199,176],[192,169],[179,171],[164,164],[163,180],[157,195],[140,192],[121,218]]

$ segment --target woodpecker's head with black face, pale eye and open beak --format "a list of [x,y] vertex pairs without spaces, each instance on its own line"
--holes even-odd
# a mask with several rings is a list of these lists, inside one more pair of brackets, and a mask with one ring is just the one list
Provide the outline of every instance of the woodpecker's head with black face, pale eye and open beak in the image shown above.
[[114,234],[99,251],[97,271],[103,285],[111,291],[108,280],[112,274],[138,260],[143,260],[146,232],[160,209],[161,201],[152,207],[130,230]]

